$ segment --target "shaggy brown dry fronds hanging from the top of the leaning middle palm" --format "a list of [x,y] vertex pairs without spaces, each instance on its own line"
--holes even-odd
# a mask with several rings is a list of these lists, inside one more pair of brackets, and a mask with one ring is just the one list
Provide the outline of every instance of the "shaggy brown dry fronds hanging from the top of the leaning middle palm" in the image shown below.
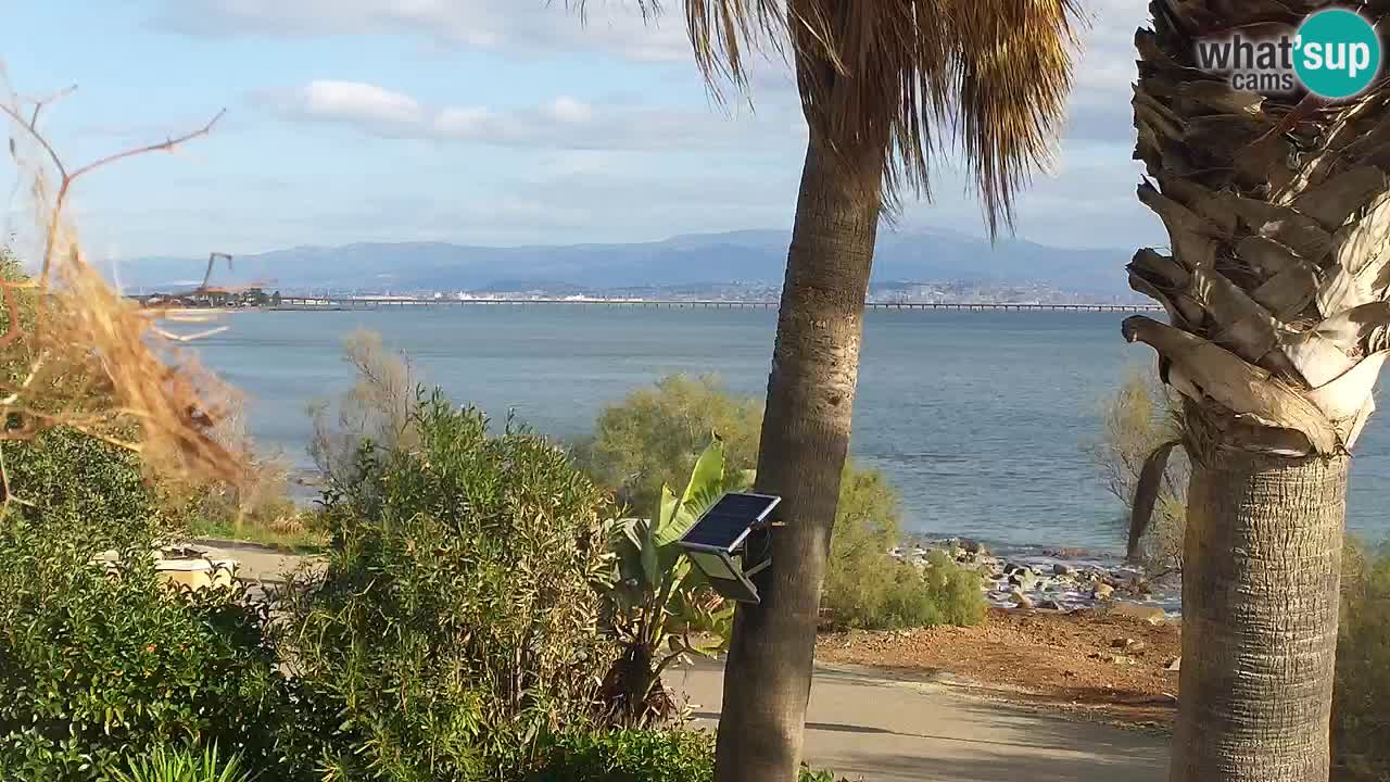
[[851,171],[881,157],[872,186],[883,181],[890,203],[929,192],[945,125],[991,232],[1012,224],[1015,192],[1052,160],[1079,14],[1077,0],[685,0],[706,81],[742,89],[749,51],[790,45],[813,139]]

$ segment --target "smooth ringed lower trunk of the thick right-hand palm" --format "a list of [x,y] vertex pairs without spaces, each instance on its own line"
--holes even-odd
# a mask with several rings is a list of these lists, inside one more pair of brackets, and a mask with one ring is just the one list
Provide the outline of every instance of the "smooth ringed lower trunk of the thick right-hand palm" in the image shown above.
[[1172,782],[1326,782],[1346,455],[1197,448]]

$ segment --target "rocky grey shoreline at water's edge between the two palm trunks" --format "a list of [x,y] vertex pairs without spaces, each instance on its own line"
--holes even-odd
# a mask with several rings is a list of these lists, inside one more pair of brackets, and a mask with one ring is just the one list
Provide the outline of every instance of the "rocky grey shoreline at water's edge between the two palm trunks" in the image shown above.
[[1150,621],[1182,615],[1176,576],[1151,580],[1119,557],[1080,548],[1012,547],[999,551],[972,538],[916,538],[894,557],[924,566],[931,551],[980,573],[986,598],[995,608],[1077,611],[1109,607]]

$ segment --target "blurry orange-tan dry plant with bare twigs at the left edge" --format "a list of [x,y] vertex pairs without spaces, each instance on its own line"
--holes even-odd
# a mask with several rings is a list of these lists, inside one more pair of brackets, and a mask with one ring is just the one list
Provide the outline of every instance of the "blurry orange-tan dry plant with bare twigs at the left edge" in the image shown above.
[[185,136],[70,168],[38,127],[46,104],[13,95],[0,104],[11,120],[11,157],[29,185],[36,230],[29,257],[38,260],[33,277],[14,278],[11,270],[0,281],[7,305],[0,438],[67,426],[138,451],[165,470],[239,481],[242,454],[214,437],[229,390],[177,348],[179,337],[158,328],[158,313],[122,298],[86,262],[64,212],[81,177],[136,154],[174,150],[206,135],[217,118]]

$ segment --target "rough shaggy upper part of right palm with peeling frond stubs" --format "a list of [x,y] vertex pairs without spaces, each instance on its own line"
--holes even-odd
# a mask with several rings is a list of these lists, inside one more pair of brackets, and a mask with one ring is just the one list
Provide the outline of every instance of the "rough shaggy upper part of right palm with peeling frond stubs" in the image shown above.
[[1204,36],[1294,29],[1334,4],[1390,24],[1365,0],[1155,0],[1152,29],[1136,33],[1138,198],[1172,248],[1136,253],[1130,287],[1172,324],[1136,317],[1125,333],[1190,401],[1198,461],[1346,454],[1390,360],[1390,85],[1329,102],[1234,89],[1197,61]]

